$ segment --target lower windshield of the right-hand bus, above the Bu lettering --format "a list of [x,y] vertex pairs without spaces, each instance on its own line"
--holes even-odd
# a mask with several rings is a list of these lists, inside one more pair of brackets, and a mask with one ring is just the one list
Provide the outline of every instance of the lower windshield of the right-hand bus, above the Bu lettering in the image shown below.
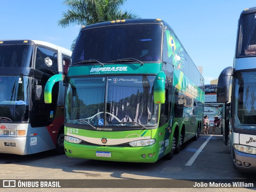
[[256,71],[237,72],[234,82],[235,127],[256,131]]

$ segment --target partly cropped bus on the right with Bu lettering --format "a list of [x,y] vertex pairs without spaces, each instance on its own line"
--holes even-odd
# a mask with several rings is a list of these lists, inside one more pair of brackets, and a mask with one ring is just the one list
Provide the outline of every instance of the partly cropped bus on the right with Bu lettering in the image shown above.
[[217,90],[217,101],[224,103],[225,143],[229,143],[234,168],[244,172],[256,172],[255,63],[256,7],[240,15],[234,64],[220,73]]

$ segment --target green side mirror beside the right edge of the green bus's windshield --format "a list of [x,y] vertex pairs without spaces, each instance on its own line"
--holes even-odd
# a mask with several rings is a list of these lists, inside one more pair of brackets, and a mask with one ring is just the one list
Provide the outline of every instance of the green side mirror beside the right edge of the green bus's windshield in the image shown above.
[[165,102],[165,79],[166,75],[164,71],[161,71],[156,75],[154,81],[154,103],[163,104]]

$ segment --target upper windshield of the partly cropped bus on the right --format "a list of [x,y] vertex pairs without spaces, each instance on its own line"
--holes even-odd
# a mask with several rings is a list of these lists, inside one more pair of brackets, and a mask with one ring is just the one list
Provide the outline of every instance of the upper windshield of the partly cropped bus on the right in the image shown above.
[[237,43],[236,57],[256,56],[256,14],[240,18]]

